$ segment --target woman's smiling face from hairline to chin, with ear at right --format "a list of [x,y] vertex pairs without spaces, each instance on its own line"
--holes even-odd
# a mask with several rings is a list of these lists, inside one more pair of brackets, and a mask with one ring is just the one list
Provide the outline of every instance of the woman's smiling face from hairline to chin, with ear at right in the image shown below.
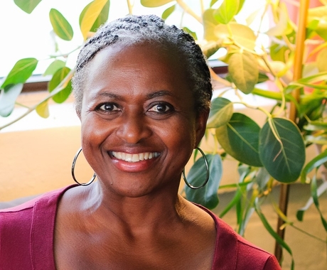
[[138,197],[177,188],[205,131],[178,55],[159,45],[112,45],[88,64],[82,148],[101,185]]

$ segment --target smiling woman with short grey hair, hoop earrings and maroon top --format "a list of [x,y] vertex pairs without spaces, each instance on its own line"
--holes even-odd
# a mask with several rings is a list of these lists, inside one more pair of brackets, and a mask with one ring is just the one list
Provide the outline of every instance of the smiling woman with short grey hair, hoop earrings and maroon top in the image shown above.
[[156,16],[108,23],[82,48],[73,88],[97,181],[0,212],[1,269],[280,269],[178,195],[212,95],[191,36]]

